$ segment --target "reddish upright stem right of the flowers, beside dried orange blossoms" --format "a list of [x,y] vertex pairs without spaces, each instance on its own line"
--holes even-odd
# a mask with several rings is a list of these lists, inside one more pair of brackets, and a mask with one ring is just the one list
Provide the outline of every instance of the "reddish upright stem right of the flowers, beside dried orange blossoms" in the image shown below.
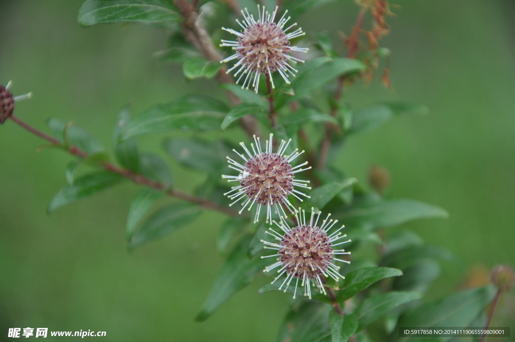
[[[365,14],[367,13],[366,9],[362,9],[359,11],[357,16],[356,25],[354,26],[351,37],[348,41],[349,51],[347,53],[348,58],[354,58],[357,51],[357,40],[359,38],[359,31],[361,31],[361,27],[363,25],[363,20],[365,19]],[[344,83],[345,83],[345,75],[341,75],[338,77],[338,86],[336,87],[336,91],[334,92],[334,100],[338,102],[341,98],[341,94],[344,91]],[[338,108],[334,106],[331,108],[330,115],[335,117]],[[331,149],[331,135],[333,133],[333,125],[325,124],[325,133],[322,138],[322,142],[320,143],[320,157],[318,159],[318,169],[323,170],[325,168],[325,164],[327,163],[327,158],[329,155],[329,150]]]

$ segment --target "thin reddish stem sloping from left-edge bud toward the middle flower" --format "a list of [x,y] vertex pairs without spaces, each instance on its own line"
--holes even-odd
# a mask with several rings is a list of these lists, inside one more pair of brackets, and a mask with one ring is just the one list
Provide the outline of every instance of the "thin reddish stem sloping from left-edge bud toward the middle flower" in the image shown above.
[[[35,135],[39,136],[40,138],[48,141],[50,144],[56,145],[56,146],[62,146],[62,143],[59,140],[57,140],[57,139],[53,138],[52,136],[50,136],[48,134],[45,134],[42,131],[40,131],[40,130],[30,126],[29,124],[27,124],[24,121],[22,121],[20,118],[14,116],[14,115],[11,115],[10,118],[16,124],[20,125],[21,127],[26,129],[27,131],[31,132],[32,134],[35,134]],[[72,155],[80,157],[82,159],[86,159],[86,158],[89,157],[88,153],[80,150],[76,146],[68,146],[68,150],[67,151],[70,152]],[[184,193],[184,192],[182,192],[180,190],[168,189],[167,185],[165,185],[163,183],[160,183],[160,182],[153,181],[151,179],[148,179],[145,176],[137,174],[137,173],[134,173],[134,172],[132,172],[129,169],[116,166],[116,165],[111,164],[109,162],[102,162],[101,165],[106,170],[108,170],[110,172],[113,172],[113,173],[116,173],[118,175],[121,175],[121,176],[131,180],[132,182],[134,182],[136,184],[141,184],[141,185],[145,185],[145,186],[148,186],[148,187],[152,187],[153,189],[156,189],[156,190],[166,190],[166,193],[169,196],[177,197],[177,198],[180,198],[182,200],[198,204],[199,206],[204,207],[206,209],[213,209],[213,210],[216,210],[216,211],[219,211],[221,213],[224,213],[224,214],[227,214],[227,215],[231,215],[231,216],[237,216],[238,215],[238,213],[236,211],[234,211],[232,209],[229,209],[229,208],[226,208],[226,207],[223,207],[223,206],[220,206],[218,203],[212,202],[212,201],[210,201],[208,199],[205,199],[205,198],[200,198],[200,197],[196,197],[196,196]]]

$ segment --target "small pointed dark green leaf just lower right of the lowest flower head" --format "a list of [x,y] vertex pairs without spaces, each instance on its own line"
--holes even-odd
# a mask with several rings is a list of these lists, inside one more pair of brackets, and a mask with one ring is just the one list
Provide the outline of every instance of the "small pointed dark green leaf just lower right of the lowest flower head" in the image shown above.
[[399,276],[402,276],[400,269],[388,267],[367,267],[352,271],[345,277],[344,289],[338,293],[336,300],[343,303],[376,281]]

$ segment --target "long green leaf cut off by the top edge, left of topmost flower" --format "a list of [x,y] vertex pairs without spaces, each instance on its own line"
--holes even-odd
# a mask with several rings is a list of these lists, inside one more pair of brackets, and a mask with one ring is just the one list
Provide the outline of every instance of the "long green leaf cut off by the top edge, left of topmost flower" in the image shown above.
[[180,16],[167,0],[86,0],[77,18],[82,26],[117,22],[176,22]]

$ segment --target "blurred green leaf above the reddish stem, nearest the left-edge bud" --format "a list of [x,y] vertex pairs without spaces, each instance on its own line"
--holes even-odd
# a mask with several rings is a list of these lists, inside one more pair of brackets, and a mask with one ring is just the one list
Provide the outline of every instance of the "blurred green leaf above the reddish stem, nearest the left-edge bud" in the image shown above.
[[64,142],[63,136],[66,130],[66,143],[77,147],[89,155],[104,152],[104,147],[87,131],[69,123],[64,123],[56,118],[48,118],[46,121],[50,132],[57,140]]

